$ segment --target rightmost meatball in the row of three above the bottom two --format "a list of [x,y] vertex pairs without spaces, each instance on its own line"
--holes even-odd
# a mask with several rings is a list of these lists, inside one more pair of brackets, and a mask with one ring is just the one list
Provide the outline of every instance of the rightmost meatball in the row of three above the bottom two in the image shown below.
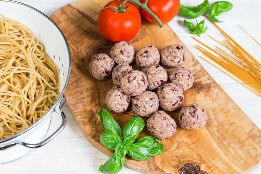
[[168,83],[158,88],[159,106],[166,111],[174,111],[181,106],[184,99],[183,91],[174,83]]

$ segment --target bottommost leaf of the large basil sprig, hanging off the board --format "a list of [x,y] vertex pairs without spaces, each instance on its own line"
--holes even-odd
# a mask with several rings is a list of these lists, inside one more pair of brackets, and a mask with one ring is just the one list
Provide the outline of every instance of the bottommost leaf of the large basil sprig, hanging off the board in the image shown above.
[[120,160],[117,160],[115,153],[113,153],[111,157],[103,165],[99,167],[99,171],[106,174],[115,174],[123,168],[124,163],[124,157]]

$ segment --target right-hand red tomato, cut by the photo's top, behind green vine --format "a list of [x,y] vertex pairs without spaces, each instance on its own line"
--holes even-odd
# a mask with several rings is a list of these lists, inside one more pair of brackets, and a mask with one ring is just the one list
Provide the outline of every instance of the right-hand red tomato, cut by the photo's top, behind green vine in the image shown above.
[[[145,1],[140,0],[142,3]],[[147,6],[159,17],[163,24],[166,24],[177,15],[180,2],[179,0],[149,0]],[[147,21],[157,24],[155,19],[142,8],[140,8],[140,13]]]

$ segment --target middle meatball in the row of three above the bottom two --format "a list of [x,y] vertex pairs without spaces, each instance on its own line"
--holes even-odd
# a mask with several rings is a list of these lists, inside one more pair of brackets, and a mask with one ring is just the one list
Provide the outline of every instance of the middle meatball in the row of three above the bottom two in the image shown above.
[[158,105],[158,96],[151,91],[145,91],[132,99],[132,111],[140,117],[150,117],[158,110]]

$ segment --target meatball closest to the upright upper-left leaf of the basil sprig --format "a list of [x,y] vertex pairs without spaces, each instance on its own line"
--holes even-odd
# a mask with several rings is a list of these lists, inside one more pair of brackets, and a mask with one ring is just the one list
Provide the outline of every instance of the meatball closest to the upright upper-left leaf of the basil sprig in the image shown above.
[[107,92],[106,104],[112,112],[124,112],[129,107],[130,95],[124,94],[121,87],[115,86]]

